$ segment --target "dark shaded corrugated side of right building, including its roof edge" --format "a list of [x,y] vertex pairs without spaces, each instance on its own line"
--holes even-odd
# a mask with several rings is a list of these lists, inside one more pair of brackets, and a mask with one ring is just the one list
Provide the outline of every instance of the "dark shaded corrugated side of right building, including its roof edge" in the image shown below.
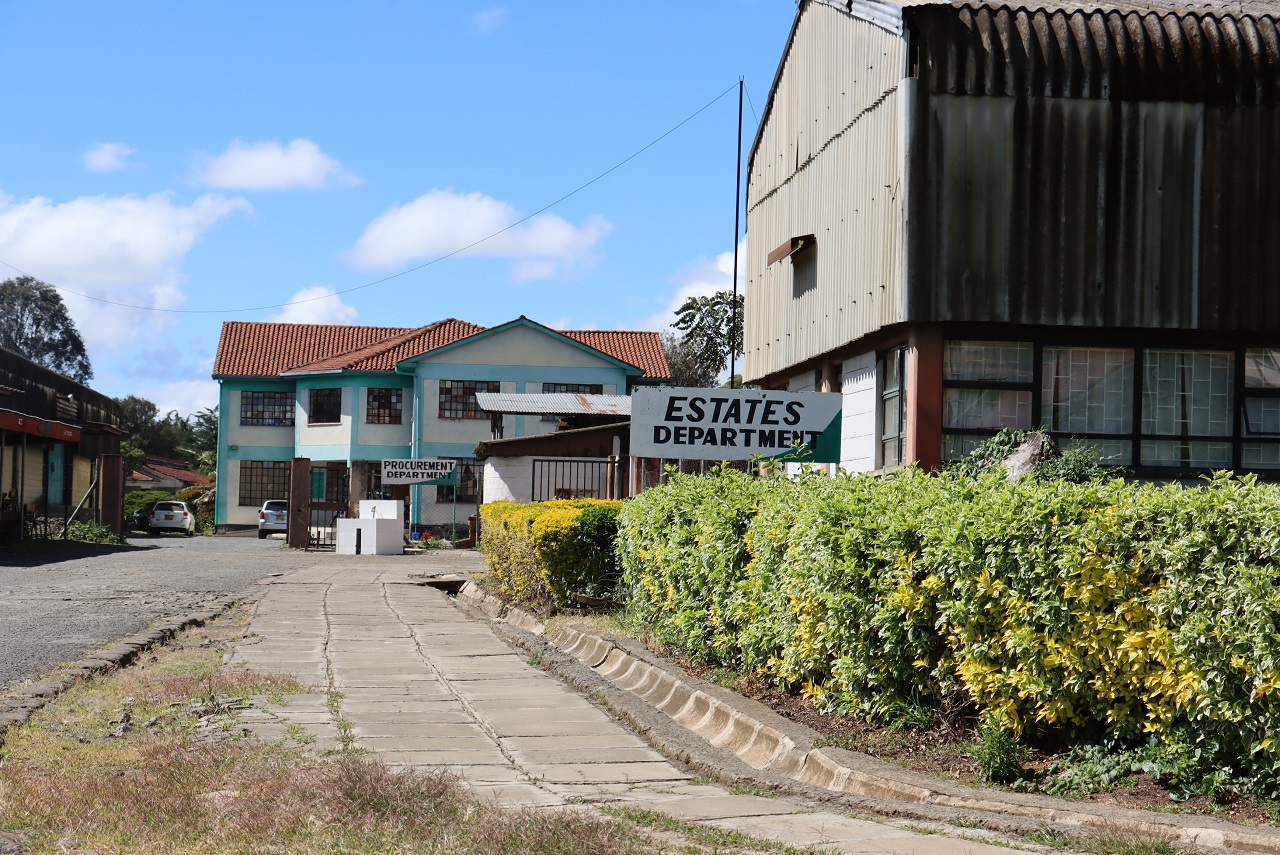
[[1274,19],[910,17],[910,319],[1280,328]]

